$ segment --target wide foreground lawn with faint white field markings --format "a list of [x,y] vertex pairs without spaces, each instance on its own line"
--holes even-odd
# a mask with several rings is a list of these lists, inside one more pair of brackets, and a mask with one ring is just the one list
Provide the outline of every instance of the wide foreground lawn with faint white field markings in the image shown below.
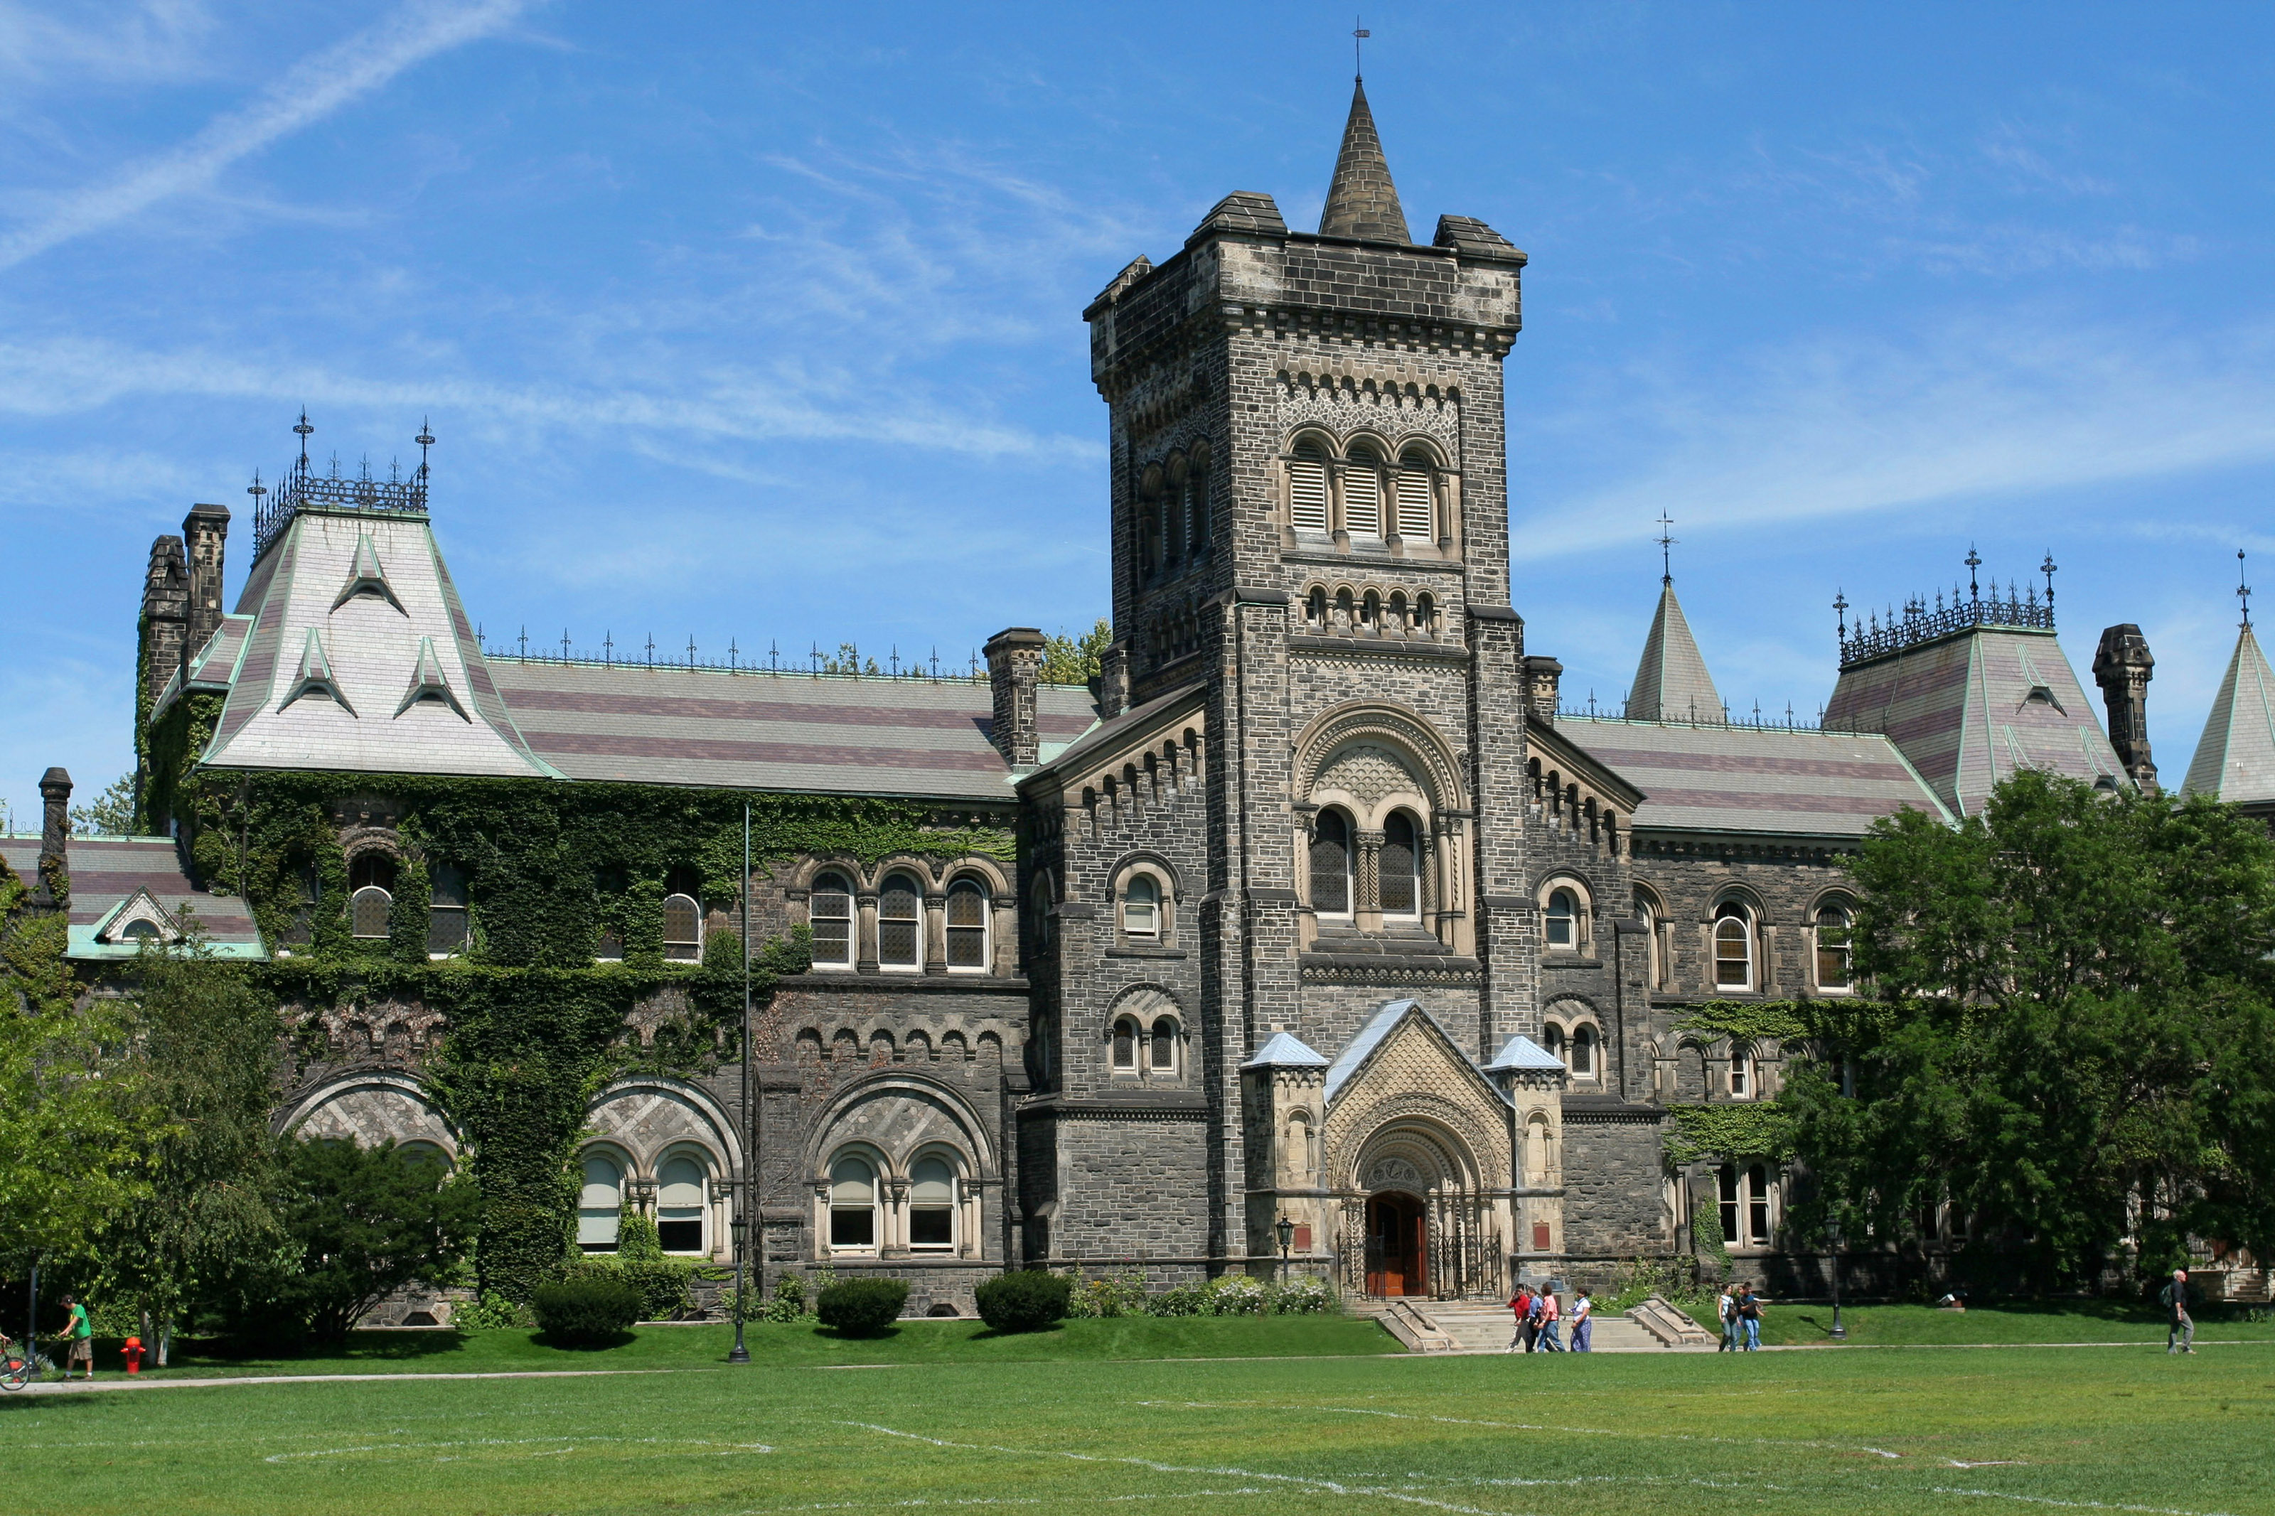
[[[1242,1323],[1192,1323],[1224,1327]],[[607,1361],[619,1361],[610,1357]],[[23,1511],[2275,1516],[2275,1346],[917,1361],[0,1400]]]

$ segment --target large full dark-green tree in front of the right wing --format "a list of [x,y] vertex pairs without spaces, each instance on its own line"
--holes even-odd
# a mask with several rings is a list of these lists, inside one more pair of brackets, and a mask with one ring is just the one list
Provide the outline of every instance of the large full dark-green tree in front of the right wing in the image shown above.
[[2025,771],[1979,816],[1875,823],[1872,1000],[1813,1002],[1784,1102],[1804,1232],[1970,1218],[1979,1261],[2091,1284],[2132,1248],[2275,1246],[2275,843],[2214,800]]

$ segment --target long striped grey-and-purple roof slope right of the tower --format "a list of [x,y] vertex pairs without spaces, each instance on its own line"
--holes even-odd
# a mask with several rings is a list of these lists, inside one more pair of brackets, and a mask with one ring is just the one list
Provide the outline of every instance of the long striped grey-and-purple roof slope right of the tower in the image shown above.
[[1556,732],[1643,791],[1638,830],[1863,836],[1918,809],[1950,821],[1886,736],[1558,716]]

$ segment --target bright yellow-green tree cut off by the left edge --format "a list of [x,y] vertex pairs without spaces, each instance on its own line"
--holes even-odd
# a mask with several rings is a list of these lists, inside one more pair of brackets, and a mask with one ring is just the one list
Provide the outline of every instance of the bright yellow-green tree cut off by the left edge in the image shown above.
[[107,1218],[148,1193],[150,1121],[118,1052],[123,1007],[75,1005],[61,914],[25,911],[0,864],[0,1261],[91,1257]]

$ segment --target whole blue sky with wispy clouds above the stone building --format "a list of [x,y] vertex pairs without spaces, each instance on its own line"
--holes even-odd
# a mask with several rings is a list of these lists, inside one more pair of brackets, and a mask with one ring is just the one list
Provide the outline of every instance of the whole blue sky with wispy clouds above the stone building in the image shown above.
[[[0,800],[130,761],[150,539],[414,455],[494,639],[960,659],[1106,611],[1081,309],[1313,225],[1340,7],[0,0]],[[2186,771],[2275,484],[2275,11],[1399,5],[1408,220],[1531,255],[1515,602],[1618,700],[1658,548],[1736,709],[1859,605],[2061,564]],[[230,595],[248,559],[232,543]],[[2268,568],[2275,575],[2275,566]],[[2275,591],[2275,577],[2270,577]]]

